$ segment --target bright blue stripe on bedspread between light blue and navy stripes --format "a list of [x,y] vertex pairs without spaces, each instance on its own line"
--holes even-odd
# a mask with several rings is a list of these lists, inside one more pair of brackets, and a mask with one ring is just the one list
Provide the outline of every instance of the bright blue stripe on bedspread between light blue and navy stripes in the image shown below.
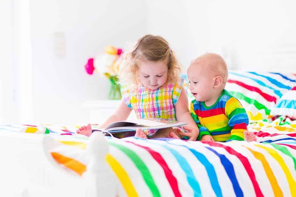
[[[169,142],[170,143],[170,142]],[[170,143],[172,144],[172,143]],[[187,148],[188,150],[190,150],[190,152],[192,152],[192,154],[198,159],[198,161],[200,161],[200,163],[205,167],[206,171],[207,171],[207,175],[210,179],[210,183],[211,186],[216,194],[217,197],[222,197],[222,191],[218,182],[218,178],[217,178],[217,174],[215,172],[215,168],[214,166],[209,162],[209,160],[200,152],[197,152],[194,149],[191,149],[185,145],[179,145],[179,144],[174,144],[176,146],[183,146],[185,148]]]

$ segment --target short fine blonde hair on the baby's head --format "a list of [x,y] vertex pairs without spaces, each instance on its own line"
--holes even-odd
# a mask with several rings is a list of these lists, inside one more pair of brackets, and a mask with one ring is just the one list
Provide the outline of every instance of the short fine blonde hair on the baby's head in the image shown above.
[[220,55],[216,53],[205,53],[199,56],[198,58],[192,60],[190,65],[204,58],[210,59],[211,61],[210,69],[212,69],[214,72],[218,73],[222,77],[222,82],[223,82],[223,85],[225,86],[227,82],[227,77],[228,77],[228,69],[227,69],[226,62]]

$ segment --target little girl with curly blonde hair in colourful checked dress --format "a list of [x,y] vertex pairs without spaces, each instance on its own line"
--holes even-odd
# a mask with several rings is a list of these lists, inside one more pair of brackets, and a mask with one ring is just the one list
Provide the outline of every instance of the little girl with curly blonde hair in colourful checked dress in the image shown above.
[[[154,35],[144,35],[131,52],[124,53],[119,60],[119,82],[122,100],[117,110],[105,121],[101,128],[116,121],[124,121],[132,110],[141,118],[166,118],[185,122],[188,132],[178,132],[167,128],[158,130],[152,138],[182,136],[195,141],[199,134],[188,108],[184,80],[179,78],[181,67],[168,42]],[[144,133],[146,132],[146,133]],[[136,137],[147,138],[146,134],[155,131],[136,131]],[[91,125],[77,130],[86,136],[91,135]],[[181,135],[182,136],[181,136]]]

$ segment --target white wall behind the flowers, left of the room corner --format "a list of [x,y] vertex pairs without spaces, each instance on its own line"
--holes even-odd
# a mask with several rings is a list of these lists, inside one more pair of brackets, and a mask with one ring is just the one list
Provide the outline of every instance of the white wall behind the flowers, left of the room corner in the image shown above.
[[[146,1],[31,0],[33,121],[85,123],[85,100],[105,99],[109,82],[84,71],[106,45],[123,47],[146,32]],[[54,54],[54,33],[65,35],[65,57]]]

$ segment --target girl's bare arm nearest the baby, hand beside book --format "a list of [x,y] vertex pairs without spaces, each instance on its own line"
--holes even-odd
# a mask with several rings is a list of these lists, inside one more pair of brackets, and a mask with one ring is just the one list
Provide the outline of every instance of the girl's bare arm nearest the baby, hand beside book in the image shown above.
[[188,99],[187,99],[187,95],[184,89],[182,89],[180,97],[178,102],[175,105],[175,110],[176,110],[176,118],[177,121],[180,122],[185,122],[188,125],[185,126],[186,127],[191,127],[193,130],[191,130],[192,132],[190,133],[182,133],[182,134],[186,134],[185,136],[189,136],[189,140],[196,140],[199,134],[199,129],[196,125],[196,123],[194,122],[190,112],[189,112],[189,107],[188,107]]

